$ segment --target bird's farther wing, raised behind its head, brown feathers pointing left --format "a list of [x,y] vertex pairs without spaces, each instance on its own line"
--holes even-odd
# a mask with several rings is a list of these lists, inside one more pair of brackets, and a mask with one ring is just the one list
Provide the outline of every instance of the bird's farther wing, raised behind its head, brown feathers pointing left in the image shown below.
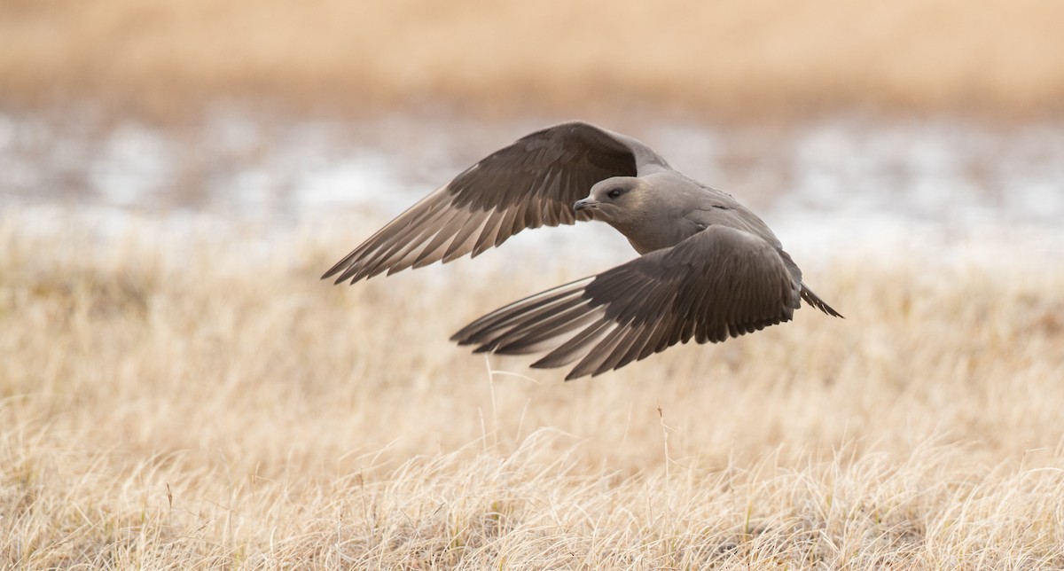
[[643,144],[572,121],[527,135],[421,199],[336,263],[322,279],[358,282],[387,271],[476,256],[527,228],[571,224],[598,181],[667,166]]

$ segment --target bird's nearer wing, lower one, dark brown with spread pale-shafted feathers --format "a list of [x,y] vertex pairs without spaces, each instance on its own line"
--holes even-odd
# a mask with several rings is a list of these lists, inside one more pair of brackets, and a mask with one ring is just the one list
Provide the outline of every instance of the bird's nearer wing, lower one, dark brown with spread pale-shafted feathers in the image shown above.
[[692,338],[724,341],[791,320],[800,284],[759,236],[714,225],[595,276],[532,296],[451,337],[477,351],[550,350],[533,367],[617,369]]

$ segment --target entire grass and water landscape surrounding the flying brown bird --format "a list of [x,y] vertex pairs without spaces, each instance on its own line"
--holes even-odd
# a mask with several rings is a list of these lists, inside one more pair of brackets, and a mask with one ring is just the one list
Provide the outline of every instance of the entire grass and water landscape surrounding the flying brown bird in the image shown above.
[[[847,319],[563,383],[448,336],[605,224],[318,280],[575,118]],[[0,568],[1064,569],[1062,221],[1061,0],[0,0]]]

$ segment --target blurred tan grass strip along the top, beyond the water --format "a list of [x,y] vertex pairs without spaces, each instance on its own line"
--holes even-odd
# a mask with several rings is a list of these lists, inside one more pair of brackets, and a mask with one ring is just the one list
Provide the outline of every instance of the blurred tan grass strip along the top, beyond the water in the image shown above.
[[180,116],[217,98],[365,113],[1060,112],[1064,4],[504,0],[0,3],[0,98]]

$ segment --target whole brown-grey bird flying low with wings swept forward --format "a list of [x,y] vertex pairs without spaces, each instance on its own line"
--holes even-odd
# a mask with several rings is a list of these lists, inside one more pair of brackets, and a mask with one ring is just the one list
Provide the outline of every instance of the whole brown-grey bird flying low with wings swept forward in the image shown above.
[[801,281],[772,231],[731,195],[672,170],[646,145],[571,121],[500,149],[436,189],[322,279],[473,256],[528,228],[601,220],[639,257],[511,303],[451,339],[477,352],[547,351],[532,367],[578,362],[597,375],[679,342],[789,321],[805,300],[842,317]]

